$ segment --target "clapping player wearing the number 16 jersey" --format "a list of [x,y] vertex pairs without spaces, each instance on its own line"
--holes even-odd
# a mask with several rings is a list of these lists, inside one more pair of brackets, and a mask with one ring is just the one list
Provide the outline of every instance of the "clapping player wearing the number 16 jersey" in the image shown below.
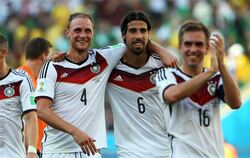
[[[210,37],[200,22],[187,21],[179,30],[179,52],[183,65],[160,69],[156,81],[171,135],[173,158],[224,158],[219,105],[232,109],[241,105],[240,91],[224,64],[224,40]],[[211,52],[211,67],[204,56]]]

